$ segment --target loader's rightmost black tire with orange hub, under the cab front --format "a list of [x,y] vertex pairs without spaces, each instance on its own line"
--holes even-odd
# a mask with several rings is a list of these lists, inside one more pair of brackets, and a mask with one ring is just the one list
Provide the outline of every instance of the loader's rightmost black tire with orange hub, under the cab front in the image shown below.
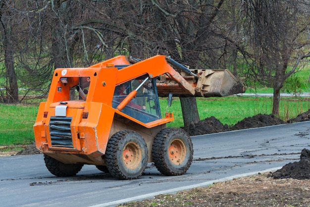
[[155,136],[152,157],[162,174],[182,175],[192,164],[192,140],[181,128],[165,128]]

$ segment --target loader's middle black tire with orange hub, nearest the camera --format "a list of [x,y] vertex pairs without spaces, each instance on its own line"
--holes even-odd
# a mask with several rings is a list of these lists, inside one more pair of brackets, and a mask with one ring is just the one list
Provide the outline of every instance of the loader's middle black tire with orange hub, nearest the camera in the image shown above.
[[115,133],[107,142],[105,163],[118,179],[137,179],[148,163],[148,148],[143,137],[131,130]]

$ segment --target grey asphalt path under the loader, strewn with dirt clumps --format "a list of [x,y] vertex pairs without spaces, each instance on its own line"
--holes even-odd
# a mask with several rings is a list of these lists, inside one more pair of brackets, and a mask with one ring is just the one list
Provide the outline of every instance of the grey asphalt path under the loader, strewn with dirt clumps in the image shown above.
[[55,177],[43,155],[0,157],[0,206],[104,207],[276,170],[299,161],[310,146],[310,122],[192,137],[194,161],[182,176],[148,165],[137,180],[117,180],[84,165],[75,177]]

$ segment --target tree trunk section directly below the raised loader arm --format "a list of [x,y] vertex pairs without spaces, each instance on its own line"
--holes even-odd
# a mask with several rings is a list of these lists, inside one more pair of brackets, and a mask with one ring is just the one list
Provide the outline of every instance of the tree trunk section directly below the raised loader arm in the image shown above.
[[198,123],[200,120],[196,98],[195,97],[180,97],[184,126]]

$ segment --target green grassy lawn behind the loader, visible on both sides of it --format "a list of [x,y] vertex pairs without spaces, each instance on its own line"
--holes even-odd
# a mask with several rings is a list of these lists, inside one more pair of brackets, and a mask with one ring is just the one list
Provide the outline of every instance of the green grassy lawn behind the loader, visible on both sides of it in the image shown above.
[[[160,99],[162,114],[165,113],[167,99]],[[221,123],[234,125],[245,117],[258,113],[270,114],[272,98],[255,98],[246,96],[230,96],[223,98],[197,98],[200,119],[214,116]],[[0,146],[26,145],[34,142],[33,124],[38,111],[37,104],[0,104]],[[288,120],[310,108],[309,101],[304,98],[282,98],[280,102],[280,118]],[[175,121],[168,127],[183,126],[180,100],[173,98],[169,112],[174,113]]]

